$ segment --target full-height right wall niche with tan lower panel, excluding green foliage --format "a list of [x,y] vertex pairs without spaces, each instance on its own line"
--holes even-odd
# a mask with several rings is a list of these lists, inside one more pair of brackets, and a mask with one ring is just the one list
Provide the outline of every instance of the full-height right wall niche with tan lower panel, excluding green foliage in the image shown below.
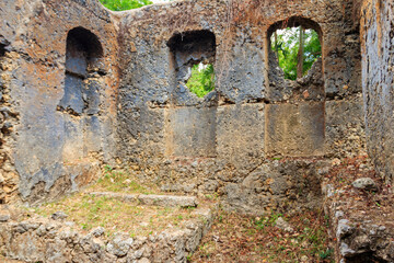
[[[318,42],[323,47],[321,27],[311,20],[291,18],[277,22],[269,27],[266,52],[269,58],[268,100],[270,103],[266,105],[265,111],[266,155],[268,157],[323,156],[325,142],[325,92],[322,59],[324,57],[316,58],[309,71],[308,68],[301,67],[300,78],[297,77],[297,61],[293,62],[293,66],[296,66],[296,72],[292,72],[293,78],[286,79],[286,75],[278,64],[279,48],[276,48],[275,45],[275,32],[288,27],[299,28],[298,35],[297,31],[294,31],[296,36],[293,38],[296,42],[300,41],[300,30],[301,32],[315,31],[316,35],[314,37],[318,37]],[[296,47],[296,52],[299,53],[300,45]],[[317,53],[321,53],[321,56],[323,55],[322,52]]]

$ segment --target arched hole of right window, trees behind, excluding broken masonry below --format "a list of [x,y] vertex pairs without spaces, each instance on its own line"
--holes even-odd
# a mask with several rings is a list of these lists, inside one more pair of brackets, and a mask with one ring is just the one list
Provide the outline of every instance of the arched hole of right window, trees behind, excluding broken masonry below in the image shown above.
[[291,18],[271,25],[268,35],[285,79],[304,77],[322,57],[321,28],[313,21]]

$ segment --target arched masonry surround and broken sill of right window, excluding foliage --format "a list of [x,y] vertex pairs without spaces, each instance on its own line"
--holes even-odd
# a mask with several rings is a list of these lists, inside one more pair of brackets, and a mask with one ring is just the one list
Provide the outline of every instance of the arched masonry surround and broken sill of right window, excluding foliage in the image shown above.
[[[297,80],[285,79],[283,70],[279,67],[278,57],[275,50],[271,48],[271,36],[277,30],[287,27],[301,26],[304,30],[313,30],[318,35],[318,41],[322,47],[322,57],[317,58],[312,65],[311,69],[305,76]],[[269,89],[268,99],[270,102],[279,101],[324,101],[324,76],[323,76],[323,32],[321,26],[309,19],[293,16],[285,21],[273,24],[267,32],[268,46],[266,52],[268,53],[268,78]]]

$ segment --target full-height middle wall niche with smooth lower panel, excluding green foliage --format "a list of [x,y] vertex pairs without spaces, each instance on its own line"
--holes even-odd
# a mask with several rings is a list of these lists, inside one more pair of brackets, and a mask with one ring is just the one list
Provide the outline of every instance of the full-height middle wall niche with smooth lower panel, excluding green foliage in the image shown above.
[[[192,31],[174,35],[167,43],[173,56],[174,89],[166,110],[166,155],[177,157],[216,156],[215,92],[197,98],[186,87],[192,67],[200,62],[213,65],[216,39],[209,31]],[[213,99],[212,99],[213,98]]]

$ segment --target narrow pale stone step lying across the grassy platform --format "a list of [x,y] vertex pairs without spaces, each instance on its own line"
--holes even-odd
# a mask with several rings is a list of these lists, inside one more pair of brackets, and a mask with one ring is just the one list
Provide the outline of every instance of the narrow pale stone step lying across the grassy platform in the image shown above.
[[140,205],[150,206],[197,207],[198,205],[197,198],[195,196],[123,194],[113,192],[91,192],[88,194],[96,196],[107,196],[121,199],[124,202],[138,202]]

